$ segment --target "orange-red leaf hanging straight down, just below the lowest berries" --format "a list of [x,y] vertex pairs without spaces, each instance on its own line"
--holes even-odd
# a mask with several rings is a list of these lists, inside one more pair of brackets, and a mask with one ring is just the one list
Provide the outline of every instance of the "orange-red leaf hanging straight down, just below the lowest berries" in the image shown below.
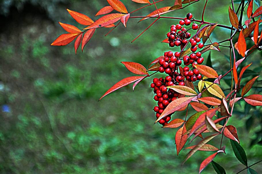
[[186,132],[187,132],[187,130],[186,130],[185,125],[183,125],[183,127],[178,129],[178,131],[176,132],[175,142],[176,142],[176,153],[177,153],[177,155],[179,154],[179,152],[182,150],[182,148],[185,146],[185,144],[187,142],[187,134],[185,134]]

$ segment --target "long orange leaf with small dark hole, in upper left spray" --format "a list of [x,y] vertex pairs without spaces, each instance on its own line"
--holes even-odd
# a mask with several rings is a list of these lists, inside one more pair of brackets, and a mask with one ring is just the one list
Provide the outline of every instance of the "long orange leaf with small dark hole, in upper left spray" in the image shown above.
[[111,14],[102,16],[101,18],[96,20],[92,25],[84,28],[84,30],[90,29],[90,28],[100,28],[100,27],[111,25],[111,24],[119,21],[122,16],[125,16],[125,14],[111,13]]

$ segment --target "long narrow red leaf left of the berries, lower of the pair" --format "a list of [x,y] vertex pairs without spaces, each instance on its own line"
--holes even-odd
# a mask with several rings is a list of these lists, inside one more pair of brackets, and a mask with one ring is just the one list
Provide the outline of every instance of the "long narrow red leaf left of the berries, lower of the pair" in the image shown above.
[[[122,88],[130,83],[140,80],[141,78],[144,78],[144,76],[132,76],[132,77],[124,78],[119,82],[117,82],[116,84],[114,84],[109,90],[107,90],[107,92],[105,92],[105,94],[101,98],[103,98],[107,94],[110,94],[111,92],[114,92],[115,90],[118,90],[119,88]],[[99,100],[101,100],[101,98]]]

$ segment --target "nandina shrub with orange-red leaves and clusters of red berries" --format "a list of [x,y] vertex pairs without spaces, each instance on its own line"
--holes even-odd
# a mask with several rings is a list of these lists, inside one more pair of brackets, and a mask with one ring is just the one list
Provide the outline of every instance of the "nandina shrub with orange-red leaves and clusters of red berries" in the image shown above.
[[[120,23],[126,27],[129,19],[140,18],[140,21],[143,21],[154,18],[155,20],[153,23],[132,40],[132,42],[134,42],[147,29],[155,24],[157,20],[176,20],[176,22],[170,24],[170,27],[166,27],[167,38],[162,41],[167,43],[170,47],[170,51],[164,52],[163,55],[160,55],[160,57],[149,63],[148,68],[135,62],[121,62],[130,72],[139,76],[132,76],[120,80],[105,92],[101,98],[133,82],[134,90],[139,82],[157,73],[159,74],[158,78],[153,78],[150,84],[155,94],[153,99],[157,102],[157,106],[153,107],[156,117],[155,123],[160,123],[164,128],[179,128],[175,134],[177,155],[184,148],[186,142],[192,142],[196,137],[200,137],[202,140],[198,141],[193,146],[185,148],[191,149],[185,157],[185,161],[198,150],[214,151],[214,154],[208,156],[201,163],[199,173],[201,173],[211,162],[217,173],[225,173],[223,167],[213,161],[221,152],[225,153],[225,146],[222,144],[223,137],[225,136],[230,140],[237,159],[246,166],[245,169],[247,169],[249,173],[256,173],[248,166],[246,153],[240,146],[236,127],[234,127],[234,125],[227,125],[227,123],[233,116],[232,113],[235,103],[239,100],[244,100],[252,106],[262,106],[262,95],[251,94],[246,96],[259,76],[250,79],[250,81],[244,84],[244,87],[240,86],[241,78],[245,74],[246,69],[251,65],[246,58],[254,51],[261,51],[262,49],[261,37],[259,36],[259,24],[262,22],[262,20],[260,20],[262,7],[253,10],[253,0],[248,0],[247,2],[242,0],[238,7],[235,7],[234,1],[232,0],[228,8],[231,26],[225,26],[204,20],[204,13],[208,0],[205,1],[203,10],[201,11],[201,19],[195,19],[192,14],[193,12],[185,14],[185,18],[162,16],[165,13],[183,9],[200,0],[175,0],[174,5],[162,8],[157,8],[157,5],[158,3],[164,3],[162,2],[164,0],[153,0],[153,2],[149,0],[132,1],[147,5],[132,12],[128,12],[121,1],[107,0],[109,5],[100,9],[95,15],[104,16],[98,18],[96,21],[93,21],[84,14],[67,9],[69,14],[79,24],[84,25],[85,28],[80,30],[73,25],[59,22],[68,33],[60,35],[51,45],[67,45],[75,39],[74,47],[75,53],[77,53],[80,44],[81,50],[83,51],[83,48],[98,28],[112,28],[107,33],[109,34]],[[151,5],[155,7],[155,11],[147,16],[133,15],[134,12]],[[111,13],[112,11],[114,12]],[[247,15],[248,20],[242,21],[243,15]],[[229,38],[222,41],[214,41],[210,36],[217,27],[231,30]],[[233,44],[234,38],[238,41]],[[206,44],[207,40],[210,41],[210,44]],[[252,40],[252,47],[247,48],[246,40]],[[229,46],[221,45],[222,43],[229,43]],[[205,60],[203,54],[210,50],[220,51],[219,47],[226,47],[229,49],[231,69],[223,75],[217,74],[212,67],[202,65]],[[243,58],[236,60],[237,54],[241,55]],[[240,64],[248,65],[244,66],[240,70],[240,73],[238,73],[237,69],[240,67]],[[152,71],[154,72],[149,74],[149,72]],[[229,73],[232,74],[231,89],[230,92],[225,94],[225,91],[220,87],[223,84],[220,84],[220,82],[221,79]],[[240,95],[240,97],[236,97],[237,94]],[[187,117],[189,109],[195,110],[196,113]],[[186,110],[185,118],[176,118],[174,113],[184,110]],[[221,117],[216,117],[218,114],[221,115]],[[171,117],[174,117],[174,119],[171,119]],[[205,133],[208,132],[212,134],[204,136]],[[217,142],[216,145],[208,144],[210,140],[217,136],[221,136],[221,141]]]

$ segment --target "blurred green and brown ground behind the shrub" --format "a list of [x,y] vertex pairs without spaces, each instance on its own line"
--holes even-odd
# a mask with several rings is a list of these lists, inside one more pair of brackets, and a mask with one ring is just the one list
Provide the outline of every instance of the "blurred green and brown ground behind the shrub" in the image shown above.
[[[128,11],[143,6],[130,0],[122,2]],[[166,0],[157,6],[172,6],[173,3],[174,0]],[[166,16],[184,18],[191,12],[200,19],[204,3],[204,0],[199,1]],[[230,4],[229,0],[208,1],[205,20],[229,25]],[[132,44],[131,40],[153,19],[138,24],[138,19],[130,19],[127,28],[119,25],[106,37],[110,28],[99,28],[83,53],[79,49],[77,55],[73,43],[50,46],[55,38],[65,33],[57,21],[83,28],[66,8],[96,20],[99,16],[93,16],[106,5],[105,0],[1,1],[1,173],[198,173],[201,161],[213,153],[197,152],[181,166],[188,150],[176,155],[174,134],[177,129],[163,129],[153,124],[152,109],[156,102],[149,88],[152,79],[139,83],[134,92],[129,85],[97,102],[117,81],[133,76],[120,61],[134,61],[147,67],[153,59],[170,50],[161,41],[177,20],[157,21]],[[147,15],[154,8],[149,6],[134,15]],[[229,35],[230,30],[216,28],[212,41],[221,41]],[[251,44],[248,42],[248,47]],[[229,50],[220,49],[221,53],[211,51],[211,61],[214,69],[222,74],[230,67]],[[206,63],[208,53],[203,56]],[[255,51],[242,66],[250,62],[253,65],[246,71],[242,85],[261,75],[261,52]],[[248,94],[261,94],[261,79],[257,79],[256,88]],[[227,89],[225,93],[229,92],[230,81],[230,74],[222,80],[222,88]],[[193,113],[190,108],[189,116]],[[261,107],[251,107],[241,101],[229,121],[238,130],[248,165],[261,160],[261,114]],[[183,119],[184,115],[185,112],[178,112],[172,119]],[[214,138],[211,144],[219,147],[220,138]],[[223,144],[227,154],[219,154],[214,161],[227,173],[245,168],[236,159],[227,138]],[[262,173],[261,164],[252,169]],[[202,173],[215,171],[208,165]]]

